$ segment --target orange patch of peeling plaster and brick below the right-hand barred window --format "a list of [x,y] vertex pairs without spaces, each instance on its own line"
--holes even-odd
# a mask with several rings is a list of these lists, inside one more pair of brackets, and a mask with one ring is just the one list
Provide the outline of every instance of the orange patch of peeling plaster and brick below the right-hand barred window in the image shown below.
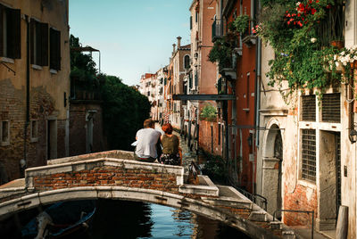
[[[285,187],[285,192],[288,192],[287,187]],[[303,185],[296,185],[293,194],[284,194],[283,208],[286,210],[314,210],[315,218],[318,218],[318,200],[316,190]],[[285,212],[284,223],[287,226],[311,227],[311,214]]]

